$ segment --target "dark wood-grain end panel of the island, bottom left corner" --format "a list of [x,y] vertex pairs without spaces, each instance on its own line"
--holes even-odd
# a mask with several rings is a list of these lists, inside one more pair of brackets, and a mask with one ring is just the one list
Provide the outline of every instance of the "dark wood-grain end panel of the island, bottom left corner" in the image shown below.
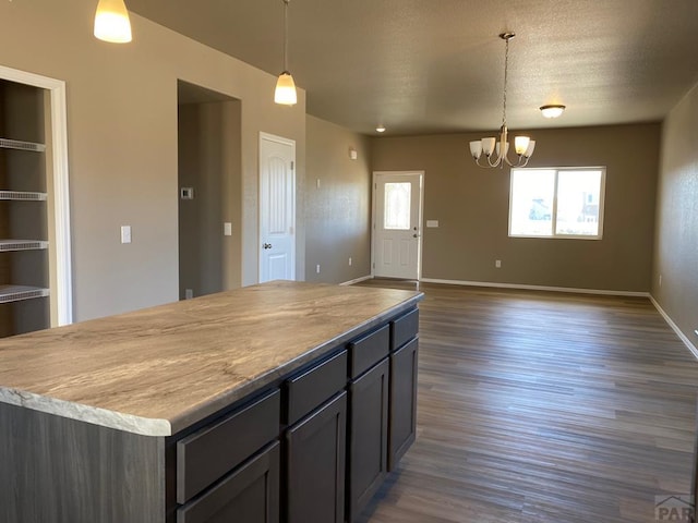
[[0,403],[0,521],[165,523],[164,446]]

